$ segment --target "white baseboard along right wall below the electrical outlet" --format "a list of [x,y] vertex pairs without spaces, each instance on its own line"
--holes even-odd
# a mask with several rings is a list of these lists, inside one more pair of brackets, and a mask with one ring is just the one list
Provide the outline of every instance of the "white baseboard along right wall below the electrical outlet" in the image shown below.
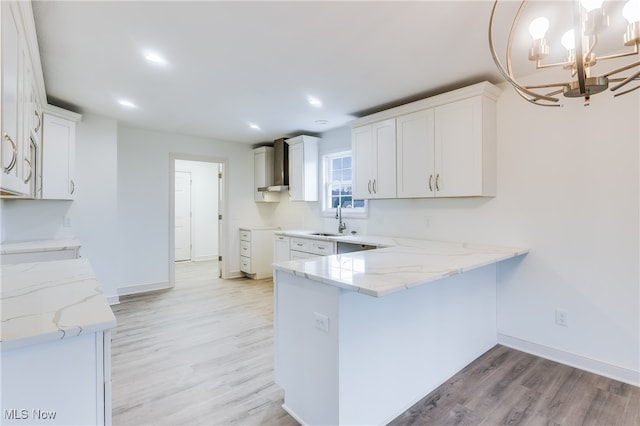
[[556,361],[561,364],[609,377],[610,379],[640,386],[640,371],[630,370],[625,367],[609,364],[603,361],[587,358],[560,349],[522,340],[517,337],[498,333],[498,343],[513,349],[527,352],[542,358]]

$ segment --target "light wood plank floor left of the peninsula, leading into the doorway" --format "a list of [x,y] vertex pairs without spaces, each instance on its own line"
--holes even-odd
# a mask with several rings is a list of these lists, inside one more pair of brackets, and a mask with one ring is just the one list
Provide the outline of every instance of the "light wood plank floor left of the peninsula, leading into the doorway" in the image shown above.
[[176,264],[173,290],[114,306],[114,425],[297,425],[273,383],[271,280]]

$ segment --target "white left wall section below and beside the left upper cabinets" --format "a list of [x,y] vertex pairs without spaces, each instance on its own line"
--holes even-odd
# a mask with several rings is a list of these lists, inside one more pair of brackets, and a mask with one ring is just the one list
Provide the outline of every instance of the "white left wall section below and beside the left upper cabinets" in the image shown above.
[[[76,236],[103,291],[117,294],[117,123],[85,115],[76,126],[75,201],[3,200],[3,241]],[[63,218],[71,226],[63,226]]]

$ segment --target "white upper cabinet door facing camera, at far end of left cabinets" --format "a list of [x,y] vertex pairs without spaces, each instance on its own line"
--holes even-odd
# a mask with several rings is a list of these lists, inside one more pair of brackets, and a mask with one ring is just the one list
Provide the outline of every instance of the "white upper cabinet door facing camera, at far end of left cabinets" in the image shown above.
[[76,124],[44,115],[42,132],[42,198],[73,200]]

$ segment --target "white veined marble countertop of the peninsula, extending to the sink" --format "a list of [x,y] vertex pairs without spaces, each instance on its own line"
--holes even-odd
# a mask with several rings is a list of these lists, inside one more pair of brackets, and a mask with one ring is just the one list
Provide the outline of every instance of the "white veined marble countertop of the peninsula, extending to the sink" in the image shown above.
[[[294,233],[283,235],[294,236]],[[298,234],[298,236],[304,236]],[[528,249],[376,236],[329,237],[386,246],[332,256],[274,263],[276,270],[357,291],[386,296],[528,253]]]

